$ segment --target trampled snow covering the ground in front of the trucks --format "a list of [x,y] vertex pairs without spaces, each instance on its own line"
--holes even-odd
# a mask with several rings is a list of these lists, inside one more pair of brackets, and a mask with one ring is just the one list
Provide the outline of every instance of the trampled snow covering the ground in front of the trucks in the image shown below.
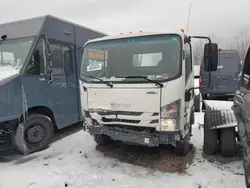
[[[203,114],[196,114],[194,161],[186,172],[161,173],[108,158],[84,131],[50,148],[0,163],[0,188],[235,188],[245,187],[242,161],[209,163],[202,158]],[[79,152],[81,151],[81,152]],[[241,174],[241,175],[239,175]]]

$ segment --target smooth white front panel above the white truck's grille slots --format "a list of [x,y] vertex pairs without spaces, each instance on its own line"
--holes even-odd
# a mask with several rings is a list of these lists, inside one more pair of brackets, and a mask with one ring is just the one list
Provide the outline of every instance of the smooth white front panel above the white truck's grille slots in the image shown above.
[[89,88],[88,108],[159,113],[160,93],[160,88]]

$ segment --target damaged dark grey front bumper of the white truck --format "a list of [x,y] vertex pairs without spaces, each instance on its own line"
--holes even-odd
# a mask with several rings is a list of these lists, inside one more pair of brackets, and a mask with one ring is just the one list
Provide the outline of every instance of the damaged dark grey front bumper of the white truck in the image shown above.
[[156,132],[146,133],[133,131],[129,129],[109,126],[90,126],[88,132],[91,135],[107,135],[112,140],[122,141],[124,143],[131,143],[143,145],[148,147],[156,147],[159,145],[173,145],[180,140],[180,132]]

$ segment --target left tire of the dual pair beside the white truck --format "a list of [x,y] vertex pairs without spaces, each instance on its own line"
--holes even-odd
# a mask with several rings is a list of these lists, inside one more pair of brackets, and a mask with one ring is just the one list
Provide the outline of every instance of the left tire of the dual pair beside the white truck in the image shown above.
[[214,125],[218,124],[216,118],[216,112],[206,112],[204,114],[204,143],[203,151],[206,154],[214,154],[219,149],[218,144],[218,131],[216,129],[210,129]]

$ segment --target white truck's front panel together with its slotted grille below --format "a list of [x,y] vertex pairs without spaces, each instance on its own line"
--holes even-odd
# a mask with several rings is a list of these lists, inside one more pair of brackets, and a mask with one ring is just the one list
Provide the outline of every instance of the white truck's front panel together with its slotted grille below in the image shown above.
[[88,88],[88,111],[99,124],[159,127],[161,88]]

